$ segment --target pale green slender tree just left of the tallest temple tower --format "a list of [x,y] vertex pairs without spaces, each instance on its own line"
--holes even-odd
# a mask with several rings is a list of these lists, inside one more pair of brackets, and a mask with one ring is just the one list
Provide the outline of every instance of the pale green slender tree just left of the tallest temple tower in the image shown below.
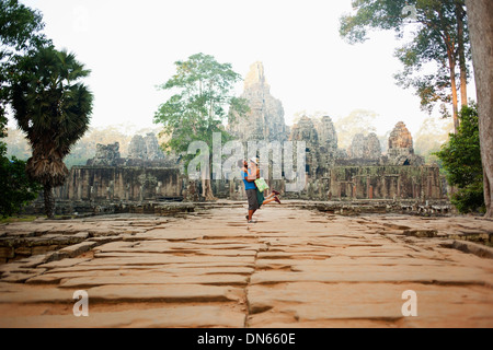
[[[172,91],[173,95],[162,104],[154,116],[154,122],[163,126],[163,133],[171,136],[163,149],[181,153],[185,163],[193,155],[187,155],[187,149],[193,141],[204,141],[213,149],[213,133],[220,132],[223,142],[230,139],[222,122],[229,115],[244,116],[248,112],[246,102],[234,97],[234,83],[241,80],[230,63],[219,63],[213,56],[196,54],[186,61],[175,62],[176,73],[160,86]],[[210,158],[209,158],[210,164]],[[211,166],[209,166],[211,170]],[[210,173],[203,174],[203,196],[214,200],[210,186]]]

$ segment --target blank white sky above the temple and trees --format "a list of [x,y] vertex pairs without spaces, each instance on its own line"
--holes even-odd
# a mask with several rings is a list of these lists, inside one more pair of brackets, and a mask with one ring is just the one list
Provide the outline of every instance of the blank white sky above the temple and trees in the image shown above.
[[413,91],[394,83],[402,66],[393,57],[393,32],[375,33],[363,45],[340,37],[351,0],[21,2],[43,13],[58,49],[73,51],[92,70],[85,82],[95,96],[93,127],[154,126],[168,97],[156,85],[171,78],[176,60],[197,52],[232,63],[242,77],[262,61],[289,125],[303,109],[325,110],[335,120],[360,108],[379,114],[380,135],[400,120],[414,135],[427,116]]

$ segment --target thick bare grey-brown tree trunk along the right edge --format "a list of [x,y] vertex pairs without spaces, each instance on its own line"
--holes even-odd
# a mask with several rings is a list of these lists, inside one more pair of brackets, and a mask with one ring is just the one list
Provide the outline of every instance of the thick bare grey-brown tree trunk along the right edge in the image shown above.
[[478,115],[483,163],[486,218],[493,218],[493,1],[466,0],[471,32],[472,62],[478,91]]

